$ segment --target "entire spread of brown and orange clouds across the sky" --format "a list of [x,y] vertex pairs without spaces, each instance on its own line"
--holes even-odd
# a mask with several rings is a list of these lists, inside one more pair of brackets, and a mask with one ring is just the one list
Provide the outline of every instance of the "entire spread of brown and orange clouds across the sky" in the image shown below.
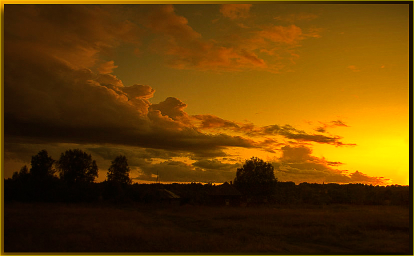
[[[281,152],[275,162],[281,180],[382,182],[360,172],[345,175],[334,170],[331,166],[341,163],[315,158],[303,146],[354,145],[342,142],[340,136],[308,133],[291,125],[259,127],[210,114],[188,115],[186,103],[178,98],[152,103],[151,86],[124,85],[113,75],[117,65],[107,59],[108,53],[125,45],[139,48],[145,30],[157,35],[154,40],[159,44],[154,48],[170,57],[171,66],[207,70],[272,69],[258,56],[259,48],[271,55],[276,45],[295,47],[308,38],[294,25],[270,26],[252,33],[248,47],[225,47],[204,40],[173,6],[154,7],[140,19],[127,20],[123,6],[117,5],[7,6],[7,161],[28,162],[43,148],[55,157],[68,147],[83,148],[99,158],[101,177],[110,161],[124,154],[136,179],[151,179],[162,170],[166,181],[220,182],[232,180],[241,164],[240,155],[231,152],[257,149]],[[220,10],[230,19],[239,19],[250,7],[223,5]],[[346,125],[337,120],[316,131],[324,133],[336,126]]]

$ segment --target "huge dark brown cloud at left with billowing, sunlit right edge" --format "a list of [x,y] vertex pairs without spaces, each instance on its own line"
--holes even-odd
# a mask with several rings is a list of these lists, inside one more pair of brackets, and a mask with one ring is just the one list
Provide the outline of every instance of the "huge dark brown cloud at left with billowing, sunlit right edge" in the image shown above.
[[[131,42],[124,34],[135,27],[111,22],[108,10],[99,6],[8,6],[7,10],[5,135],[10,139],[112,143],[194,155],[223,155],[228,146],[253,146],[240,136],[204,134],[179,122],[175,119],[186,116],[180,100],[167,98],[151,105],[148,99],[155,90],[150,86],[125,87],[109,74],[115,66],[100,63],[99,53]],[[79,33],[69,24],[78,26]],[[61,27],[67,25],[69,29]],[[91,69],[95,64],[101,73]]]

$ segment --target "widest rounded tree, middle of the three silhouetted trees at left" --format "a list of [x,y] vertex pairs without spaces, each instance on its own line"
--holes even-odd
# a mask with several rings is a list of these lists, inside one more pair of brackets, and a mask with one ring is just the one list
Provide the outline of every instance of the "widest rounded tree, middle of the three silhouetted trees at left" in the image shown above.
[[93,182],[98,177],[96,161],[80,149],[69,149],[62,153],[57,168],[61,179],[70,184]]

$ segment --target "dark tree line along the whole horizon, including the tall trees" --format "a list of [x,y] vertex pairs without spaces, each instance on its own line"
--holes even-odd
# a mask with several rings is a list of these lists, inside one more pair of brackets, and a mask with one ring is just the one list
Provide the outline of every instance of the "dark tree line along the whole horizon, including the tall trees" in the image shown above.
[[[119,156],[112,161],[105,181],[95,182],[97,170],[91,155],[82,150],[67,150],[59,160],[52,159],[46,150],[42,150],[32,157],[30,169],[23,166],[12,178],[4,180],[4,200],[159,203],[170,202],[175,197],[180,204],[212,204],[214,200],[211,195],[219,187],[211,183],[194,182],[132,183],[125,156]],[[246,202],[246,205],[271,203],[408,206],[411,202],[409,186],[307,182],[296,185],[294,182],[280,182],[274,177],[273,166],[254,157],[246,160],[243,167],[237,169],[236,178],[230,183],[240,191],[241,201]],[[252,188],[262,193],[256,193]],[[170,194],[166,195],[166,191]]]

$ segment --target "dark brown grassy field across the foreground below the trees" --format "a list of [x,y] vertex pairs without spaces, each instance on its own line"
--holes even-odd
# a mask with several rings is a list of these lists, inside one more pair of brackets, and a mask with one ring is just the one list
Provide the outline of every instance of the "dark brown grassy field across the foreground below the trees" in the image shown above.
[[5,252],[409,254],[399,206],[4,205]]

